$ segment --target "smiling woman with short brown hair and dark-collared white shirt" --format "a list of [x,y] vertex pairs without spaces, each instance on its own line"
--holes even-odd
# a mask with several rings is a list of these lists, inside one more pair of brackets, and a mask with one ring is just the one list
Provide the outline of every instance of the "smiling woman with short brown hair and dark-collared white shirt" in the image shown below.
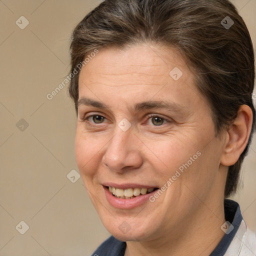
[[112,234],[92,255],[256,255],[235,192],[254,55],[228,0],[105,0],[72,34],[76,162]]

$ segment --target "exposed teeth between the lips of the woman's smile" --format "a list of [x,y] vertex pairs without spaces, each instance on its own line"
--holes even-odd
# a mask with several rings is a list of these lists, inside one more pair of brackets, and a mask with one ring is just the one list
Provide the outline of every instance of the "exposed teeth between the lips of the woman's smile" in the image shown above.
[[131,199],[135,198],[140,195],[151,193],[158,189],[158,187],[150,187],[150,188],[127,188],[127,189],[121,189],[111,186],[106,186],[110,193],[112,193],[113,196],[117,198],[122,199]]

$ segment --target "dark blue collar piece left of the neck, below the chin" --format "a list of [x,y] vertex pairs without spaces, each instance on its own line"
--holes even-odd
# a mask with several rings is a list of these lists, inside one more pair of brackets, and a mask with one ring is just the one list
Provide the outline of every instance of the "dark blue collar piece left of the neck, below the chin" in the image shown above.
[[91,256],[123,256],[126,243],[117,240],[112,235],[103,241]]

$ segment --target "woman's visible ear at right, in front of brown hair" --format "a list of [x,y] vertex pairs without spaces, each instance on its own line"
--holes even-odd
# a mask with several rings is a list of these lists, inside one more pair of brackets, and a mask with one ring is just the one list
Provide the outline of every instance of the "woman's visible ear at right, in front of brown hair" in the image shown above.
[[225,142],[220,163],[233,165],[247,145],[252,125],[252,110],[248,105],[241,105],[232,125],[225,133]]

